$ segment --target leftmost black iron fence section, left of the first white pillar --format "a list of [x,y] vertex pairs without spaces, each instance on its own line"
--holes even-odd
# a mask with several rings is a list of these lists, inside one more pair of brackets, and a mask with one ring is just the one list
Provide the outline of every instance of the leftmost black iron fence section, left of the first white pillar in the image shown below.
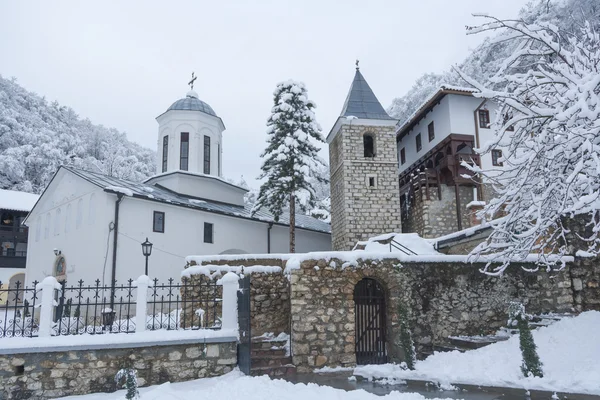
[[33,337],[38,332],[35,308],[38,303],[37,281],[32,286],[21,282],[3,288],[0,282],[0,338]]

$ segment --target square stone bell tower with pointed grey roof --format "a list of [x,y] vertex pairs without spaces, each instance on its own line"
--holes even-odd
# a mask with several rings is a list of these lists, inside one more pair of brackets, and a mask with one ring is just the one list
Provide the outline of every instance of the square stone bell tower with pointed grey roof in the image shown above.
[[333,250],[401,232],[396,123],[360,73],[327,136]]

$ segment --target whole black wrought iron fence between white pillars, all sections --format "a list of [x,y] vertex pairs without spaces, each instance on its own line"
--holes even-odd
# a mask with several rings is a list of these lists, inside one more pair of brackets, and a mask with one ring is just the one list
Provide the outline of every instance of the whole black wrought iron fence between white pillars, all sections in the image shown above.
[[[22,287],[16,282],[9,288],[0,286],[0,304],[2,299],[7,299],[4,307],[0,305],[0,338],[37,336],[40,292],[36,291],[36,284]],[[61,283],[61,289],[54,293],[51,335],[134,333],[138,320],[145,321],[144,330],[218,329],[221,326],[222,287],[214,281],[186,279],[180,283],[169,279],[161,284],[155,279],[141,304],[145,310],[138,310],[139,287],[146,290],[146,286],[138,286],[132,279],[109,285],[100,280],[92,285],[85,285],[82,280],[74,285]]]

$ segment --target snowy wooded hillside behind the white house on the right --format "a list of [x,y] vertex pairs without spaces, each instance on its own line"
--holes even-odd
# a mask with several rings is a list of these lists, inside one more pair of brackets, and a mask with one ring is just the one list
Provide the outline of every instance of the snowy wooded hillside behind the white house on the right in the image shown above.
[[[474,10],[477,11],[477,10]],[[515,10],[515,14],[517,11]],[[550,22],[569,32],[578,29],[583,21],[589,21],[600,30],[599,0],[534,0],[521,10],[519,18],[529,22]],[[486,22],[473,17],[473,24]],[[459,68],[480,82],[487,83],[498,70],[502,61],[515,50],[516,41],[497,41],[499,35],[486,39],[459,65]],[[388,113],[404,122],[443,83],[468,86],[451,66],[441,74],[427,73],[402,97],[392,100]]]

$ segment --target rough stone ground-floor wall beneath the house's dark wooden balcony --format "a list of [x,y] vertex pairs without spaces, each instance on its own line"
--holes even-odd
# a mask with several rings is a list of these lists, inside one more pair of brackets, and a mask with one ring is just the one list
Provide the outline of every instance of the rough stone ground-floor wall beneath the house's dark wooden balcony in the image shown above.
[[[437,187],[429,188],[427,200],[425,188],[415,191],[415,198],[403,232],[416,232],[424,238],[435,238],[458,231],[456,220],[456,192],[454,186],[441,185],[442,198],[438,199]],[[473,188],[459,186],[462,229],[471,227],[471,211],[466,205],[473,201]],[[404,226],[406,225],[406,226]]]

